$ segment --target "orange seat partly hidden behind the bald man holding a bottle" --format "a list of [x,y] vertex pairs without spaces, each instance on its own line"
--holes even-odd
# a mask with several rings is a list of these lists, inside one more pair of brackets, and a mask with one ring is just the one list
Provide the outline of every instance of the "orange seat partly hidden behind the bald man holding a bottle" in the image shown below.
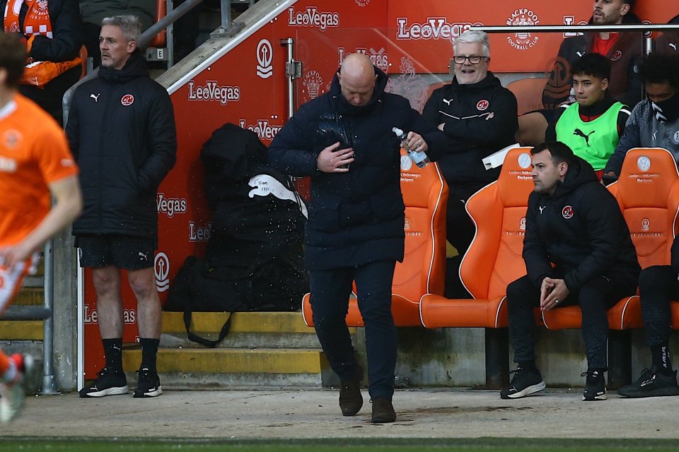
[[[396,263],[391,311],[396,326],[422,326],[419,299],[443,294],[446,271],[446,203],[448,185],[439,165],[412,164],[401,151],[401,191],[405,203],[405,257]],[[354,287],[355,292],[355,287]],[[313,326],[310,296],[302,300],[302,315]],[[349,299],[348,326],[364,326],[356,297]]]

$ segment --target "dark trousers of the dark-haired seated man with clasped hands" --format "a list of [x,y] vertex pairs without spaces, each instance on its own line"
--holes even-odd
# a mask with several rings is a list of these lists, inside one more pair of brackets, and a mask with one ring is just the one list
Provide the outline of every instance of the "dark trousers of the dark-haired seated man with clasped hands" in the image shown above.
[[[582,338],[585,343],[588,369],[607,369],[606,342],[608,317],[606,309],[622,297],[634,294],[635,278],[615,275],[598,276],[583,285],[579,292],[571,292],[559,306],[579,304],[582,311]],[[514,362],[535,359],[535,316],[533,309],[540,306],[540,289],[530,283],[528,276],[507,286],[509,340],[514,348]],[[559,309],[559,308],[557,308]]]

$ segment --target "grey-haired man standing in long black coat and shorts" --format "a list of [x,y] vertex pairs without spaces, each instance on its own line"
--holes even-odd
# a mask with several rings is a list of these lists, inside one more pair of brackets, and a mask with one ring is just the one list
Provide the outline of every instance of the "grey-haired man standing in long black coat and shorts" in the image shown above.
[[135,16],[102,20],[99,76],[76,88],[66,136],[81,168],[84,208],[73,234],[80,263],[92,270],[105,367],[80,396],[127,393],[122,369],[121,272],[137,297],[141,367],[134,397],[162,393],[156,371],[161,303],[153,254],[158,245],[156,191],[175,164],[172,102],[149,78],[137,49]]

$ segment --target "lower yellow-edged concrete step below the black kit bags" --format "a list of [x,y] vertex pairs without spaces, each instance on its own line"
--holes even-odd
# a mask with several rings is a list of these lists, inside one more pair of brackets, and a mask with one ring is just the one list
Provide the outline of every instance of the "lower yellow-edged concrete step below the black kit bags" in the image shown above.
[[[141,350],[123,351],[124,369],[139,369]],[[337,384],[321,350],[260,348],[158,350],[158,373],[163,384],[177,387],[329,386]],[[128,381],[137,381],[134,371]]]

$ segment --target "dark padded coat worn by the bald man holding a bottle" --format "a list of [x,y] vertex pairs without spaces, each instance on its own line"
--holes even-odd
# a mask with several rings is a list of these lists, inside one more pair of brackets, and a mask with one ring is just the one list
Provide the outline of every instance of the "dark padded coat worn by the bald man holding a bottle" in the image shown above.
[[[337,75],[328,93],[299,107],[269,146],[269,163],[284,174],[311,176],[305,261],[323,270],[374,261],[401,261],[405,221],[400,190],[400,141],[392,131],[417,131],[431,152],[443,133],[425,134],[422,118],[399,95],[385,93],[378,76],[367,105],[350,105]],[[317,169],[321,150],[333,143],[354,148],[349,172]],[[407,159],[407,157],[405,157]],[[409,162],[410,160],[406,160]]]

